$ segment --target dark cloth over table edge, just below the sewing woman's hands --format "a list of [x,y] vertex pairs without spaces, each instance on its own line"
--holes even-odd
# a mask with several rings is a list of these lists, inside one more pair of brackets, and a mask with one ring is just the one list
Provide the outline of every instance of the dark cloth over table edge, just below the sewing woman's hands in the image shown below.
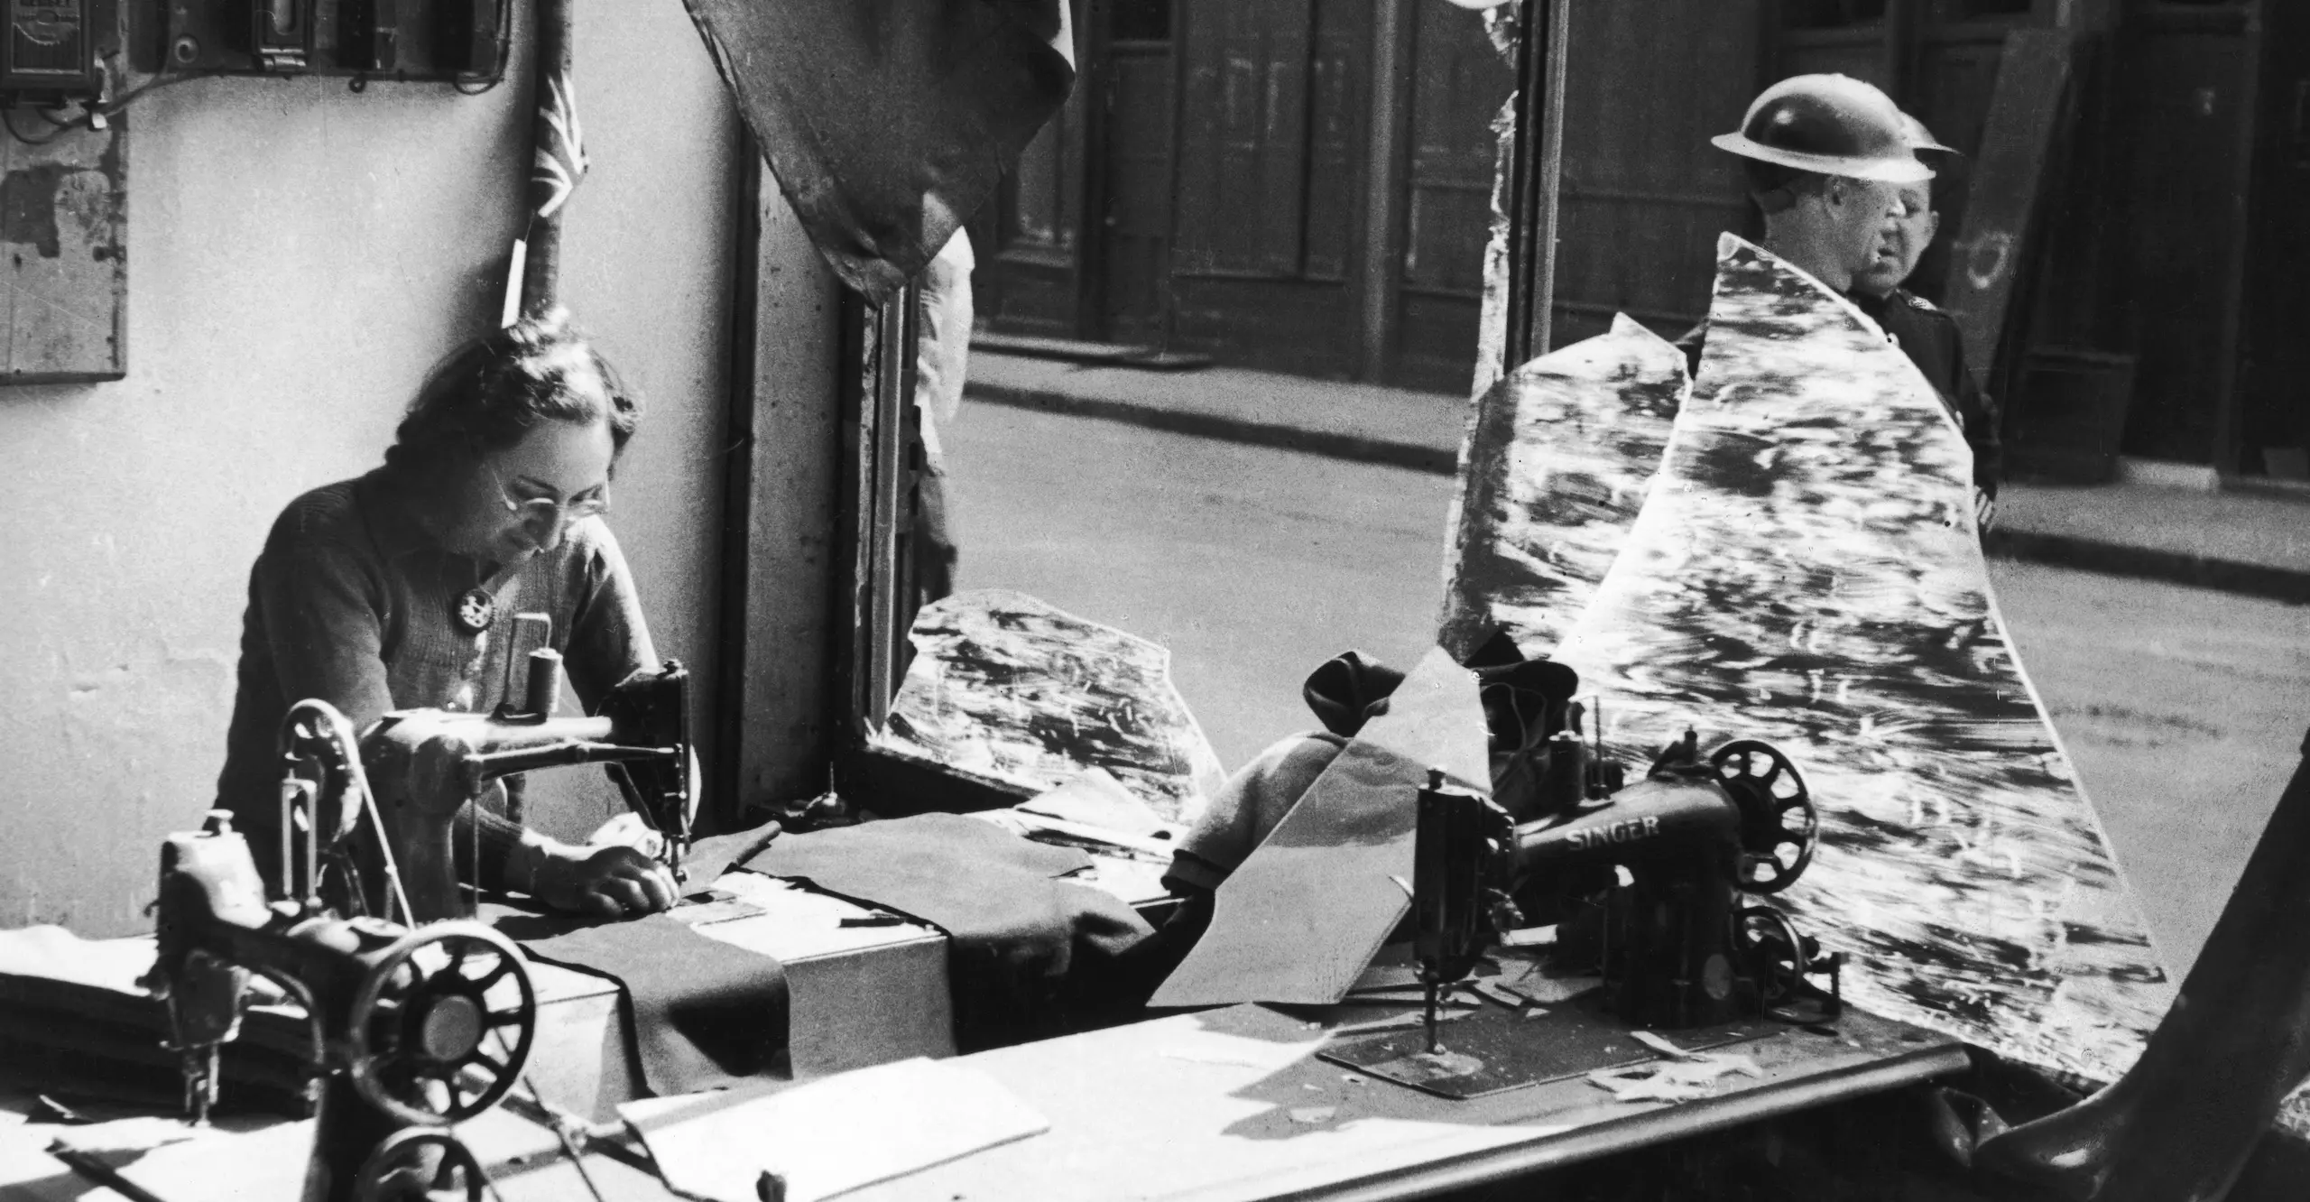
[[785,1049],[785,969],[767,955],[707,938],[670,913],[603,922],[485,901],[480,918],[531,959],[624,987],[628,1047],[651,1093],[755,1077]]

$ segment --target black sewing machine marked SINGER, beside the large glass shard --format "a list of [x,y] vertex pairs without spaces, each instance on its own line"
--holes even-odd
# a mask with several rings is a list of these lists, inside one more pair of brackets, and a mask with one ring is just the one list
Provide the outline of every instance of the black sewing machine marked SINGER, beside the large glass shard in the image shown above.
[[[1592,966],[1631,1026],[1834,1017],[1841,957],[1742,897],[1788,888],[1813,858],[1818,814],[1795,763],[1753,740],[1702,758],[1691,730],[1635,784],[1619,786],[1601,758],[1557,733],[1541,816],[1525,823],[1441,772],[1418,793],[1411,922],[1430,1052],[1439,994],[1534,918],[1557,927],[1552,962]],[[1830,973],[1827,992],[1813,973]]]

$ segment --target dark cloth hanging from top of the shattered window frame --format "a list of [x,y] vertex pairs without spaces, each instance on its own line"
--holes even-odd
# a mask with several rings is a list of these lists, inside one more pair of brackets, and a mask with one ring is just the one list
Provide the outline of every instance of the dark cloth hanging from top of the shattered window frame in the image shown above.
[[1074,88],[1065,0],[684,0],[843,284],[906,287]]

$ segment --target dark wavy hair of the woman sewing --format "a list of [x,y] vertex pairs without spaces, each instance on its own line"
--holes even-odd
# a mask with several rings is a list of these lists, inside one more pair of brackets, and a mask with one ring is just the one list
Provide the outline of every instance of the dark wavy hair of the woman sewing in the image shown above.
[[547,421],[608,421],[612,455],[642,421],[640,398],[561,310],[485,333],[434,365],[393,432],[386,467],[430,474],[450,455],[504,451]]

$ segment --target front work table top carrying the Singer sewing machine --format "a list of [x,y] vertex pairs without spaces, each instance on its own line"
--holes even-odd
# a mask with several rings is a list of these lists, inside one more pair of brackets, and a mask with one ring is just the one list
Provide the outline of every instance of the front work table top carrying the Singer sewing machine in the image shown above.
[[[963,1056],[1051,1130],[850,1195],[857,1202],[1086,1202],[1139,1197],[1423,1197],[1961,1073],[1959,1045],[1846,1012],[1836,1033],[1786,1029],[1730,1047],[1763,1077],[1684,1103],[1617,1103],[1582,1077],[1446,1100],[1319,1061],[1321,1024],[1264,1006],[1090,1031]],[[53,1130],[53,1128],[46,1128]],[[504,1202],[587,1197],[538,1126],[504,1110],[460,1128]],[[42,1149],[39,1126],[0,1130],[0,1197],[111,1202]],[[152,1151],[127,1177],[159,1202],[293,1197],[310,1123],[213,1130]],[[617,1200],[670,1200],[626,1158],[587,1156]]]

